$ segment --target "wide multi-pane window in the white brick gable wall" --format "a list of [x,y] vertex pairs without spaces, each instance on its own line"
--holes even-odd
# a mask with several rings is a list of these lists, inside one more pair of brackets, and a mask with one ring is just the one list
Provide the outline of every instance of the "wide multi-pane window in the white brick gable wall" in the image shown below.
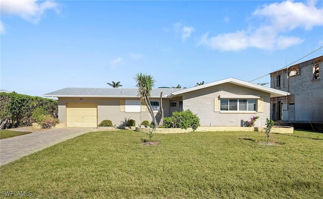
[[221,111],[256,111],[256,100],[221,99]]

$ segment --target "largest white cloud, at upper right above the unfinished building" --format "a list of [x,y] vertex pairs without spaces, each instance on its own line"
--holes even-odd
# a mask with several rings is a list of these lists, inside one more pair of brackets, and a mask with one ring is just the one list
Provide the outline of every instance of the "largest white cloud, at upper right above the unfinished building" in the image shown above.
[[323,25],[323,9],[316,9],[314,5],[287,1],[264,6],[253,12],[253,17],[265,17],[268,24],[213,37],[209,37],[209,33],[206,32],[198,44],[220,51],[241,51],[248,47],[288,48],[302,43],[304,39],[282,35],[283,33],[287,34],[295,28],[310,30],[313,26]]

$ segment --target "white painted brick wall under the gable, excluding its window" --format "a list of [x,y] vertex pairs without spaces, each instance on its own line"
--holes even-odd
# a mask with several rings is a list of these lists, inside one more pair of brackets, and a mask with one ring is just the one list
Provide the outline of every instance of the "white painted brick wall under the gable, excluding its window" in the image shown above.
[[[262,113],[220,113],[214,112],[214,98],[221,94],[258,95],[263,98]],[[211,86],[183,94],[183,110],[190,109],[200,118],[201,126],[243,126],[243,121],[259,116],[255,126],[265,126],[270,117],[270,94],[231,83]]]

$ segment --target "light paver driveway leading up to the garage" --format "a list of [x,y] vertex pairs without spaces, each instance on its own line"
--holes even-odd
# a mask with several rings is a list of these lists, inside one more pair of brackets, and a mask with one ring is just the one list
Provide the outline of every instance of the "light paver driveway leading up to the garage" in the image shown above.
[[97,131],[96,128],[57,128],[33,131],[30,127],[12,130],[33,133],[0,139],[0,166],[78,135]]

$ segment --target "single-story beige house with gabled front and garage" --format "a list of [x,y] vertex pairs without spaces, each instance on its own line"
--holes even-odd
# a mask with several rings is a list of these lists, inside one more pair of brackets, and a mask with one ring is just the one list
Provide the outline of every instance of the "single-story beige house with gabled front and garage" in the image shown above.
[[[190,109],[201,126],[243,126],[243,121],[259,116],[255,126],[265,126],[270,118],[271,97],[288,92],[228,78],[191,88],[154,88],[150,101],[160,120],[160,92],[164,117]],[[67,127],[96,127],[102,120],[121,125],[133,119],[136,125],[152,118],[140,102],[137,88],[64,88],[44,95],[58,97],[59,119]]]

